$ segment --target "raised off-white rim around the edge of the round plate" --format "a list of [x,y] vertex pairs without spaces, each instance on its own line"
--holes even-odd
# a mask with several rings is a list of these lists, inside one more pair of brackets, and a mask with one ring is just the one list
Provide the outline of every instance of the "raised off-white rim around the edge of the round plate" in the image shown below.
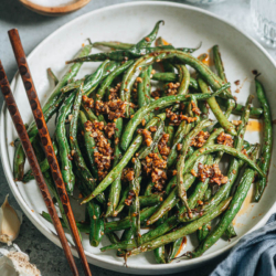
[[[65,23],[64,25],[60,26],[57,30],[55,30],[54,32],[52,32],[50,35],[47,35],[44,40],[42,40],[41,43],[39,43],[39,45],[36,45],[32,52],[28,55],[28,60],[31,59],[36,51],[39,51],[39,49],[47,42],[47,40],[50,40],[52,36],[56,35],[59,32],[61,32],[63,29],[68,28],[71,24],[75,24],[78,20],[83,20],[86,17],[93,17],[96,13],[100,13],[100,12],[105,12],[112,9],[118,9],[118,8],[123,8],[123,7],[131,7],[131,6],[163,6],[163,7],[174,7],[174,8],[181,8],[184,10],[192,10],[192,11],[197,11],[199,13],[204,13],[213,19],[216,19],[225,24],[227,24],[229,26],[231,26],[232,29],[234,29],[235,31],[240,32],[241,34],[243,34],[245,38],[247,38],[253,44],[255,44],[255,46],[258,47],[258,50],[265,55],[266,59],[269,60],[269,62],[274,65],[275,70],[276,70],[276,62],[273,60],[273,57],[268,54],[268,52],[264,49],[264,46],[257,42],[255,39],[251,38],[250,35],[247,35],[244,31],[242,31],[240,28],[235,26],[233,23],[224,20],[223,18],[221,18],[220,15],[216,15],[214,13],[211,13],[209,11],[205,11],[201,8],[198,7],[193,7],[193,6],[189,6],[189,4],[184,4],[184,3],[176,3],[176,2],[169,2],[169,1],[135,1],[135,2],[127,2],[127,3],[117,3],[117,4],[112,4],[112,6],[107,6],[107,7],[103,7],[93,11],[89,11],[87,13],[84,13],[71,21],[68,21],[67,23]],[[17,78],[18,78],[18,73],[15,73],[14,77],[12,78],[11,82],[11,87],[14,88],[17,85]],[[10,166],[9,162],[9,156],[8,156],[8,148],[6,148],[6,145],[9,145],[9,142],[7,141],[7,137],[6,137],[6,117],[7,117],[7,108],[6,108],[6,104],[3,103],[2,105],[2,109],[1,109],[1,118],[0,118],[0,153],[1,153],[1,161],[3,164],[3,171],[6,174],[6,179],[8,180],[9,187],[14,195],[14,198],[17,199],[17,202],[19,203],[19,205],[21,206],[21,209],[23,210],[23,212],[25,213],[25,215],[29,217],[29,220],[34,224],[34,226],[44,235],[46,236],[50,241],[52,241],[54,244],[56,244],[57,246],[61,247],[61,243],[59,237],[56,236],[55,233],[53,233],[49,227],[44,226],[43,223],[38,220],[35,217],[35,215],[31,212],[31,210],[29,209],[28,204],[25,203],[23,197],[20,194],[19,189],[17,187],[17,182],[13,180],[13,176],[12,176],[12,168]],[[272,208],[266,212],[266,214],[263,216],[263,219],[255,225],[253,226],[250,231],[247,231],[244,235],[251,233],[252,231],[262,227],[263,225],[265,225],[265,223],[267,222],[268,217],[273,214],[273,212],[276,211],[276,202],[272,205]],[[184,262],[181,263],[174,263],[174,264],[159,264],[159,265],[142,265],[142,266],[137,266],[134,264],[128,265],[128,267],[125,267],[125,272],[126,273],[131,273],[130,269],[139,269],[139,270],[147,270],[147,269],[151,269],[151,270],[160,270],[160,269],[177,269],[177,268],[181,268],[181,267],[188,267],[188,266],[193,266],[194,264],[199,264],[199,263],[205,263],[209,262],[215,257],[219,257],[220,255],[222,255],[223,253],[230,251],[244,235],[240,236],[236,241],[234,241],[233,243],[226,245],[225,247],[217,250],[213,253],[210,253],[208,255],[203,255],[201,257],[198,258],[193,258],[193,259],[185,259]],[[74,246],[72,246],[72,251],[73,251],[73,255],[77,256],[76,250],[74,248]],[[89,252],[85,251],[86,256],[88,257],[88,259],[93,261],[92,263],[98,266],[102,266],[100,264],[96,263],[96,261],[99,261],[104,264],[107,265],[113,265],[116,266],[118,269],[121,270],[123,268],[123,263],[115,261],[115,259],[104,259],[102,258],[100,255],[96,255]],[[102,266],[103,267],[103,266]],[[109,267],[105,267],[107,269],[109,269]],[[112,269],[112,267],[110,267]],[[128,269],[128,270],[127,270]],[[123,272],[123,270],[121,270]],[[139,273],[139,272],[136,272]]]

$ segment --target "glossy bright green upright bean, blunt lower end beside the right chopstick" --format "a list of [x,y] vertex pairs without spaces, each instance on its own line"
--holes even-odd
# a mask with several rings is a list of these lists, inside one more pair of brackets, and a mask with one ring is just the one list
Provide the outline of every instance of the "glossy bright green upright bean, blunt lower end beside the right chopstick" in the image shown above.
[[73,173],[72,161],[70,160],[71,150],[66,138],[65,119],[70,115],[75,93],[71,94],[60,108],[56,124],[56,144],[59,147],[59,157],[61,160],[61,172],[70,194],[73,194],[75,185],[75,176]]

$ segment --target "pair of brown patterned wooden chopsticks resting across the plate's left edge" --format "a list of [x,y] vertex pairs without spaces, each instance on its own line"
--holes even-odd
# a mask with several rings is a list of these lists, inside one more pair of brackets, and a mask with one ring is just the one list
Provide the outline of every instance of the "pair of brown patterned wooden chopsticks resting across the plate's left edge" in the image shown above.
[[[9,31],[9,36],[10,36],[10,41],[13,47],[13,52],[14,52],[14,56],[18,63],[18,67],[19,67],[19,73],[22,77],[23,84],[24,84],[24,88],[32,108],[32,113],[39,129],[39,134],[40,134],[40,138],[41,138],[41,142],[43,145],[50,168],[51,168],[51,172],[52,172],[52,177],[54,179],[55,182],[55,187],[57,190],[57,193],[60,195],[60,199],[62,201],[63,204],[63,209],[64,212],[67,216],[68,220],[68,224],[71,227],[71,233],[73,235],[75,245],[76,245],[76,250],[78,253],[78,256],[82,261],[82,265],[85,272],[85,275],[91,276],[91,270],[89,270],[89,266],[86,259],[86,256],[84,254],[84,248],[78,235],[78,231],[76,227],[76,223],[75,223],[75,219],[71,209],[71,204],[70,204],[70,199],[65,189],[65,184],[63,182],[63,178],[62,178],[62,173],[59,167],[59,162],[56,160],[56,156],[54,153],[53,150],[53,145],[51,141],[51,137],[49,135],[49,130],[47,130],[47,126],[43,116],[43,112],[40,105],[40,100],[32,81],[32,76],[31,76],[31,72],[29,70],[28,63],[26,63],[26,57],[24,54],[24,50],[23,46],[21,44],[20,41],[20,36],[19,36],[19,32],[17,29],[12,29]],[[25,155],[28,157],[29,163],[32,168],[33,174],[35,177],[36,182],[39,183],[39,188],[41,191],[41,194],[43,197],[43,200],[46,204],[47,211],[52,217],[53,224],[55,226],[55,230],[57,232],[57,235],[60,237],[62,247],[64,250],[65,256],[68,261],[71,270],[73,273],[73,275],[79,275],[77,272],[77,267],[74,261],[74,257],[72,255],[70,245],[67,243],[65,233],[63,231],[62,224],[60,222],[59,215],[56,213],[54,203],[52,201],[51,194],[49,192],[47,185],[44,181],[43,174],[41,172],[38,159],[35,157],[35,153],[33,151],[31,141],[29,139],[28,132],[25,130],[23,120],[21,118],[20,112],[18,109],[17,103],[14,100],[14,97],[12,95],[11,88],[10,88],[10,84],[9,81],[7,78],[6,72],[3,70],[2,63],[0,61],[0,86],[1,86],[1,91],[7,104],[7,107],[9,109],[9,113],[12,117],[12,121],[14,124],[14,127],[18,131],[18,135],[20,137],[21,144],[23,146],[23,149],[25,151]]]

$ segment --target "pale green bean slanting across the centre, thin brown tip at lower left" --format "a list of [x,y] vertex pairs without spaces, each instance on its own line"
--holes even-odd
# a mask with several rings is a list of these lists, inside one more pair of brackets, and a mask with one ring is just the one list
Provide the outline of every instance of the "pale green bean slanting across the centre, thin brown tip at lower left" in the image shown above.
[[[159,115],[159,117],[161,119],[164,119],[166,115],[161,114],[161,115]],[[148,129],[151,126],[155,126],[158,123],[158,120],[159,119],[157,119],[157,118],[152,118],[147,124],[146,129]],[[98,187],[92,192],[92,194],[83,200],[82,204],[94,199],[97,194],[103,192],[117,178],[117,176],[123,171],[123,169],[126,167],[128,161],[132,158],[134,153],[139,149],[141,142],[142,142],[142,136],[137,135],[137,137],[134,139],[134,141],[130,145],[130,147],[128,148],[128,150],[125,152],[125,156],[119,161],[119,163],[112,171],[109,171],[109,173],[98,184]]]

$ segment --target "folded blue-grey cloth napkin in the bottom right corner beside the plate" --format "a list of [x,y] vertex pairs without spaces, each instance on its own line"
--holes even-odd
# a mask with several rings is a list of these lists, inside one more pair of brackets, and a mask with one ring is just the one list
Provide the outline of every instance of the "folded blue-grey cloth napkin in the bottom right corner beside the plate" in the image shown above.
[[276,214],[245,235],[210,276],[276,276]]

